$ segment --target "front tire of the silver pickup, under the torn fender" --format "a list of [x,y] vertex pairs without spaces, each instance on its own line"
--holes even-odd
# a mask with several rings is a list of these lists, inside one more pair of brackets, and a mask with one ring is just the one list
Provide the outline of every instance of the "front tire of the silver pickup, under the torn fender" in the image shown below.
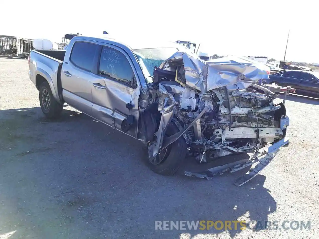
[[[167,136],[171,136],[179,132],[178,128],[170,123],[167,126]],[[185,159],[187,153],[187,144],[183,136],[178,138],[174,143],[170,144],[167,149],[166,153],[164,153],[164,159],[159,164],[151,163],[150,157],[147,155],[146,164],[149,168],[157,174],[161,175],[174,175],[178,170],[179,166],[181,165],[182,161]],[[159,152],[158,156],[159,157]]]

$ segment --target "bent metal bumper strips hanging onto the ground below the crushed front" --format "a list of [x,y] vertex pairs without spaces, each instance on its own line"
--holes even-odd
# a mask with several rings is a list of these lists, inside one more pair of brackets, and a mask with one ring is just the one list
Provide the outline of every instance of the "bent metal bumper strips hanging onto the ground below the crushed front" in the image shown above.
[[216,175],[221,175],[227,171],[233,173],[243,168],[249,167],[254,163],[259,162],[255,168],[249,170],[248,174],[245,174],[242,177],[239,177],[235,182],[234,185],[240,187],[241,185],[247,183],[250,179],[256,177],[256,175],[263,170],[271,160],[277,155],[280,148],[283,146],[287,146],[289,144],[289,139],[284,138],[268,148],[265,148],[262,152],[259,153],[257,156],[252,156],[249,159],[243,159],[240,161],[236,161],[233,163],[227,163],[221,166],[217,166],[211,169],[207,169],[200,173],[192,173],[188,171],[184,171],[184,174],[189,177],[199,177],[199,178],[206,178],[211,180]]

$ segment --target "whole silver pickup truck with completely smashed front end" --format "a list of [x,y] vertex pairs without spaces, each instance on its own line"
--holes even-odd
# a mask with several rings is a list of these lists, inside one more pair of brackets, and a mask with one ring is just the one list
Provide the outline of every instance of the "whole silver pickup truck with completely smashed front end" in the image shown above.
[[[58,117],[67,103],[142,141],[147,164],[159,174],[174,174],[186,155],[221,161],[185,171],[206,179],[259,162],[238,186],[288,145],[285,105],[256,84],[269,78],[267,66],[235,57],[203,62],[177,43],[134,40],[80,35],[66,51],[32,50],[29,77],[44,115]],[[237,153],[251,157],[223,164],[222,156]]]

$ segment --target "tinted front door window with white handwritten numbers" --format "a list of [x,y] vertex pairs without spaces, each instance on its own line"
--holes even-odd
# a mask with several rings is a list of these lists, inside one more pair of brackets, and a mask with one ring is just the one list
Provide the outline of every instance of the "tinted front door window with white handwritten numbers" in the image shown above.
[[127,85],[131,85],[134,81],[130,62],[121,52],[110,47],[102,48],[99,75],[110,77]]

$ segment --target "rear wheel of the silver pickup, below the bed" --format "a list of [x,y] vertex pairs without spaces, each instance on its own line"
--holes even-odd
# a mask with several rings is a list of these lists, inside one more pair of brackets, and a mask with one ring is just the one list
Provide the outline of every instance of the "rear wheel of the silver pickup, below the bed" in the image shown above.
[[40,86],[39,101],[43,114],[49,119],[58,118],[63,110],[63,105],[53,97],[48,82],[43,82]]

